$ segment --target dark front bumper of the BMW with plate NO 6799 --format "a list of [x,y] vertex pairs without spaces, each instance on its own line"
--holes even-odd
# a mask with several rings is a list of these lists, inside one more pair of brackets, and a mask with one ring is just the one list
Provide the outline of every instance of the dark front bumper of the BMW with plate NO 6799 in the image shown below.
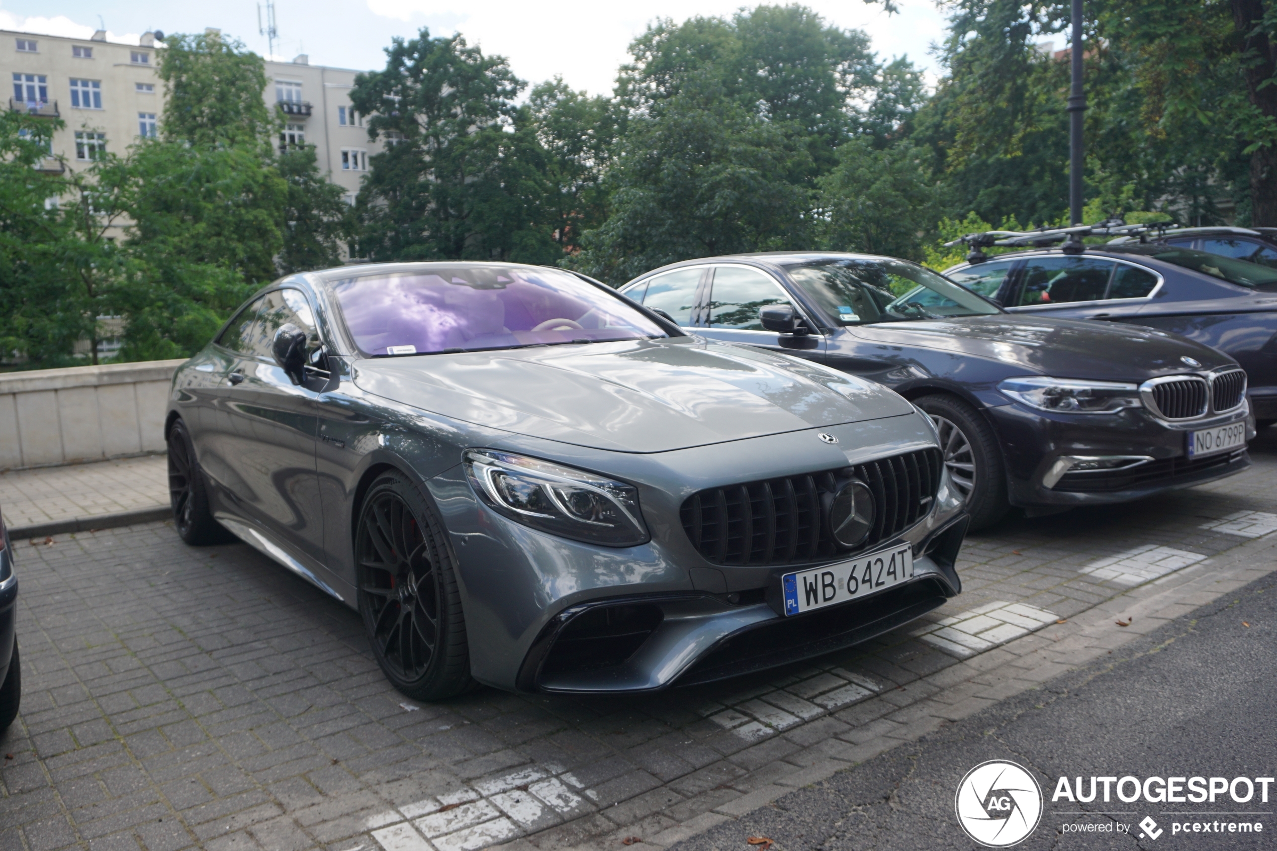
[[[1189,459],[1188,434],[1244,416],[1246,440],[1255,436],[1254,418],[1245,408],[1183,424],[1162,422],[1139,408],[1111,415],[1051,415],[1013,403],[986,411],[1002,438],[1008,499],[1019,507],[1129,503],[1225,478],[1250,466],[1245,448]],[[1048,487],[1043,480],[1062,455],[1144,455],[1152,461],[1120,471],[1068,472]]]

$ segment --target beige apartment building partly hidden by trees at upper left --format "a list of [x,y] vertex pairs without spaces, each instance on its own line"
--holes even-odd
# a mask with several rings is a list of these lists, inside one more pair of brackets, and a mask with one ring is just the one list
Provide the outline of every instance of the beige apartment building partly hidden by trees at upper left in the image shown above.
[[[216,29],[206,31],[216,33]],[[163,84],[156,74],[157,33],[138,45],[0,31],[0,74],[13,80],[9,108],[60,117],[50,153],[88,163],[102,151],[124,153],[140,137],[153,137],[163,112]],[[354,200],[381,151],[368,139],[363,116],[350,105],[359,71],[312,65],[305,55],[291,63],[266,63],[262,93],[283,120],[280,145],[313,144],[319,168]],[[52,159],[45,168],[60,168]]]

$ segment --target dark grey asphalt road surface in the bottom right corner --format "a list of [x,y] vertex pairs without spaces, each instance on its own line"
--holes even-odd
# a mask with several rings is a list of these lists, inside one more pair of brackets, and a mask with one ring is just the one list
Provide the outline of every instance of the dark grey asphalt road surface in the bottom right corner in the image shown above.
[[[1249,626],[1246,625],[1249,624]],[[972,848],[954,814],[963,776],[990,759],[1028,768],[1042,820],[1018,848],[1249,848],[1277,843],[1269,803],[1222,795],[1214,805],[1051,803],[1060,776],[1273,777],[1277,774],[1277,577],[1269,575],[1151,633],[1103,662],[1046,683],[917,743],[692,837],[678,851]],[[1154,787],[1156,788],[1156,787]],[[1128,795],[1131,787],[1126,786]],[[1244,787],[1239,787],[1244,794]],[[1125,811],[1064,815],[1061,810]],[[1171,817],[1166,810],[1191,811]],[[1208,811],[1267,815],[1207,815]],[[1139,822],[1152,815],[1154,840]],[[1262,833],[1172,833],[1172,822],[1260,822]],[[1065,824],[1114,832],[1062,833]],[[1119,833],[1129,824],[1130,833]],[[1188,828],[1191,831],[1191,827]],[[1225,827],[1226,829],[1226,827]]]

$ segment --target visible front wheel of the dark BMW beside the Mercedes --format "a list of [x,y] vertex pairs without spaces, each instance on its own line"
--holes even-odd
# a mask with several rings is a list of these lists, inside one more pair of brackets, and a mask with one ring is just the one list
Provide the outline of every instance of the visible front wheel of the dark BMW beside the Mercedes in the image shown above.
[[997,523],[1010,509],[997,435],[979,411],[955,396],[936,393],[913,402],[940,433],[940,449],[954,489],[964,496],[972,532]]

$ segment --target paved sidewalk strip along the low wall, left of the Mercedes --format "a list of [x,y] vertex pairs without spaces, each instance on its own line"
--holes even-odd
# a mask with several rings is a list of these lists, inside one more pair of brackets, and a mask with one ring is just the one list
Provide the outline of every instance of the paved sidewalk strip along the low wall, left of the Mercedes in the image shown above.
[[10,529],[169,504],[163,455],[0,473],[0,513]]

